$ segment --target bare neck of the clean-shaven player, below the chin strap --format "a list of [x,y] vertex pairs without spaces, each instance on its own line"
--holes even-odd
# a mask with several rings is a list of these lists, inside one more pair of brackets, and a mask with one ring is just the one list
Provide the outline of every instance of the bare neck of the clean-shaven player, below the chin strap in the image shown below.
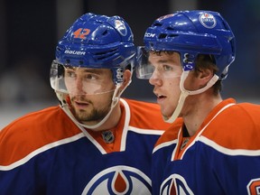
[[181,116],[190,136],[196,134],[209,112],[221,101],[220,95],[213,96],[212,93],[209,94],[209,90],[186,99]]

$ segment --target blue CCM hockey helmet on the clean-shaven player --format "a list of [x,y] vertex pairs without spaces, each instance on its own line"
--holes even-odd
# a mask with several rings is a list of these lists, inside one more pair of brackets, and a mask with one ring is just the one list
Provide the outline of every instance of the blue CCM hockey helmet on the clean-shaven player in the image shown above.
[[235,60],[235,36],[217,12],[179,11],[156,19],[144,34],[146,51],[178,51],[183,70],[193,70],[198,54],[210,54],[219,79]]

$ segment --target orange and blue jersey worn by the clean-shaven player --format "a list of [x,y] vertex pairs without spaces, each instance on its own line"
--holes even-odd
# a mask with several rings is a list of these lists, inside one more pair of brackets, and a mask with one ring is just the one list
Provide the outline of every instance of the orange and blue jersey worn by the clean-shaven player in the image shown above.
[[178,119],[153,150],[153,194],[259,194],[260,106],[222,101],[183,144]]

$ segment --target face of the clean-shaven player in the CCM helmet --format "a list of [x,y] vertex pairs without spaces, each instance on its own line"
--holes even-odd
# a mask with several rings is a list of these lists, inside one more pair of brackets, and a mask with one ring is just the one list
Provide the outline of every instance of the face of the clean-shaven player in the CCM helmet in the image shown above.
[[154,86],[153,93],[161,106],[163,116],[172,116],[180,98],[181,60],[177,52],[172,54],[151,52],[149,62],[153,66],[153,75],[149,79]]

